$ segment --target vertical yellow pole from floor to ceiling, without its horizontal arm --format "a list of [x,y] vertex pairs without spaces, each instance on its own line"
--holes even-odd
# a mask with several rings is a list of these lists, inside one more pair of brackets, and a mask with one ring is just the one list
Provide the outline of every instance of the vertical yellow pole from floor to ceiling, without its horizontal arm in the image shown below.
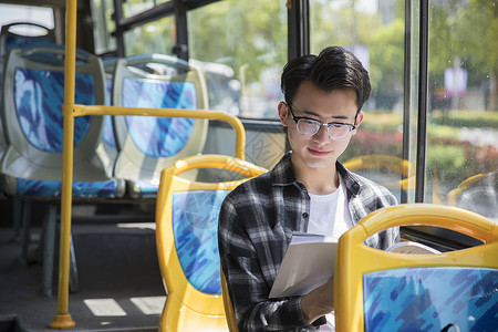
[[62,145],[61,240],[59,253],[58,313],[49,324],[51,329],[71,329],[76,325],[69,313],[69,270],[71,238],[71,206],[73,184],[74,85],[76,72],[76,0],[66,0],[65,13],[65,74],[64,118]]

